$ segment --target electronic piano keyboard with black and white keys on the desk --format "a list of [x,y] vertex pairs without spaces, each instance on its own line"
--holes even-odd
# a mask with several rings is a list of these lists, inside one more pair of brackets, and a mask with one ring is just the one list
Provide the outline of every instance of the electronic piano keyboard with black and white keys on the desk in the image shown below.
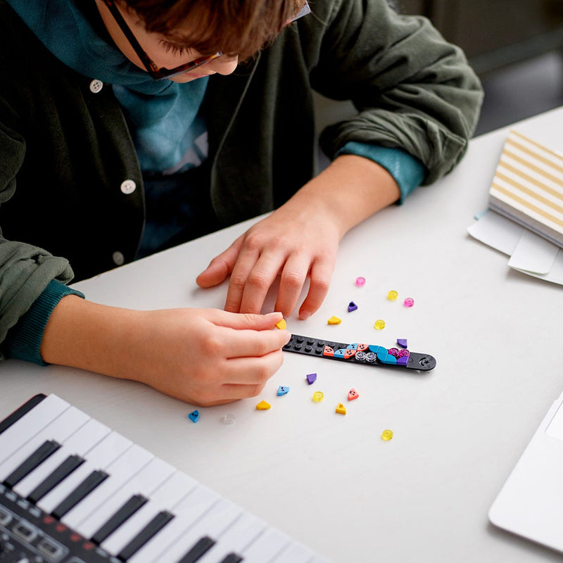
[[0,563],[327,563],[56,395],[0,422]]

